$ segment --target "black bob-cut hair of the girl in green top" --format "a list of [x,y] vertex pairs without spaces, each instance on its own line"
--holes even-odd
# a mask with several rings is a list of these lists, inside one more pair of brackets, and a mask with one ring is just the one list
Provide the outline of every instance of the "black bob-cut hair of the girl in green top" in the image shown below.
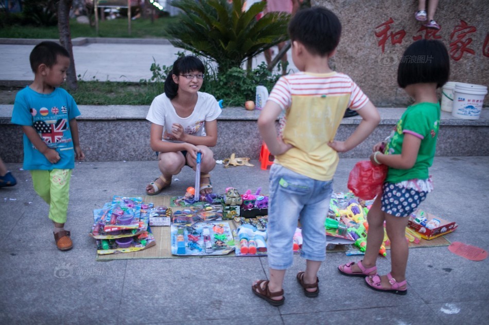
[[418,83],[436,83],[442,87],[450,75],[448,52],[442,42],[419,40],[404,52],[397,68],[397,84],[406,88]]

